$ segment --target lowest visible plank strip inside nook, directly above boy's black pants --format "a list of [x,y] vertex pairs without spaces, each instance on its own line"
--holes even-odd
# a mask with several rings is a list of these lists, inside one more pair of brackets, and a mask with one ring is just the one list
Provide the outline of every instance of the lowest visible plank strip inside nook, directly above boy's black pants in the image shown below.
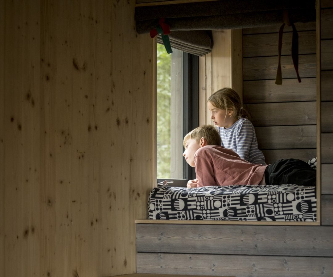
[[304,162],[316,157],[316,149],[281,149],[281,150],[262,150],[267,164],[271,164],[280,159],[300,159]]

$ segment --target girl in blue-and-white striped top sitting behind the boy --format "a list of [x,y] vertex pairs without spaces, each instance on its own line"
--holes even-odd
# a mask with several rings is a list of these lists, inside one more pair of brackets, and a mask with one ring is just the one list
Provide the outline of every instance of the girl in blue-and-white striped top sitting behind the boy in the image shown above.
[[213,93],[207,101],[210,118],[220,133],[222,146],[235,151],[239,157],[252,163],[265,165],[265,157],[258,142],[248,113],[243,109],[236,91],[229,87]]

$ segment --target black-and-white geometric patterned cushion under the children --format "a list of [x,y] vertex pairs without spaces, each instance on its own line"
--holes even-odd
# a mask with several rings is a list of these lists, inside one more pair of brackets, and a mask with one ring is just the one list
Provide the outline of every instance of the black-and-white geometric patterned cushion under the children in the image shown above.
[[316,221],[316,187],[297,185],[157,187],[149,219]]

